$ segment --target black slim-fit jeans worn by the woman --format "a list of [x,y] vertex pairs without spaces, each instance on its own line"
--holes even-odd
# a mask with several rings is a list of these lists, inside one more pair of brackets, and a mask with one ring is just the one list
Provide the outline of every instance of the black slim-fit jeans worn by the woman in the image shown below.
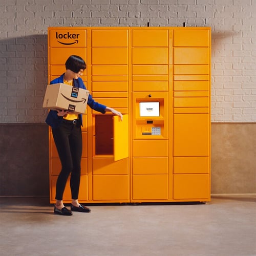
[[81,125],[63,121],[57,129],[52,129],[52,134],[61,162],[55,199],[62,200],[70,173],[72,199],[78,199],[82,157]]

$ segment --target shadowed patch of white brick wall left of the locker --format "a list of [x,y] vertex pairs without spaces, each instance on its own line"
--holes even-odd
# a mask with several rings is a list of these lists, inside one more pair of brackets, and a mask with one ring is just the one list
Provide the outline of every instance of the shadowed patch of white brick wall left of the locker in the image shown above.
[[0,41],[3,89],[0,123],[44,122],[42,109],[48,83],[47,35]]

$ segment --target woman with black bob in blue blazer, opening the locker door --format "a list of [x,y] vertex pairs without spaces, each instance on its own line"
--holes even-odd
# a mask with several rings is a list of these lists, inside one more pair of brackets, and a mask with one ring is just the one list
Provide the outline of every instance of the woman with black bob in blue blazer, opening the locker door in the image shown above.
[[[65,83],[70,86],[86,89],[80,76],[86,69],[86,62],[76,55],[71,55],[66,61],[66,72],[60,77],[52,80],[50,84]],[[120,116],[122,114],[108,106],[102,105],[89,95],[88,103],[92,109],[105,113],[112,112]],[[86,206],[79,204],[78,193],[80,185],[80,162],[82,156],[82,115],[66,110],[50,110],[46,118],[46,123],[52,127],[53,139],[61,161],[61,172],[56,183],[56,204],[54,213],[71,216],[72,211],[90,212]],[[62,201],[63,192],[71,173],[70,188],[72,195],[71,210],[65,207]]]

